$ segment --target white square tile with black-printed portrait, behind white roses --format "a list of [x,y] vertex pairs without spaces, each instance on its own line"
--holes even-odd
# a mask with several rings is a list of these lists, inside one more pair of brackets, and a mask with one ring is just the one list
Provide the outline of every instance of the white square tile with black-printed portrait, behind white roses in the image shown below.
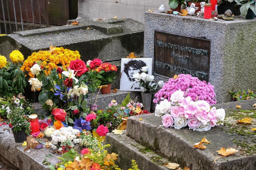
[[152,75],[152,58],[122,58],[121,59],[121,78],[120,91],[141,91],[139,82],[133,75],[142,73],[142,67],[148,67],[148,75]]

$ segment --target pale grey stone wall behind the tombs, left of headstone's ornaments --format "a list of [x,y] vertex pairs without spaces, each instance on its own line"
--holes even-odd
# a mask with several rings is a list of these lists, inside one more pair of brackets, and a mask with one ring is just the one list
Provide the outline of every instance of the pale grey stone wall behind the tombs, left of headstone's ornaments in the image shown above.
[[144,23],[144,12],[158,11],[161,5],[170,8],[167,0],[78,0],[78,17],[97,20],[117,16]]

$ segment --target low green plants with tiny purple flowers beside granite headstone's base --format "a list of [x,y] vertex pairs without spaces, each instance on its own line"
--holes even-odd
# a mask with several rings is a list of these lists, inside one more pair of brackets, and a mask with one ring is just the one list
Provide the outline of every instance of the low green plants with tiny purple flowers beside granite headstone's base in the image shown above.
[[246,100],[246,99],[253,99],[255,98],[256,94],[253,93],[251,90],[232,90],[229,91],[232,94],[233,100],[232,101],[237,101],[237,100]]

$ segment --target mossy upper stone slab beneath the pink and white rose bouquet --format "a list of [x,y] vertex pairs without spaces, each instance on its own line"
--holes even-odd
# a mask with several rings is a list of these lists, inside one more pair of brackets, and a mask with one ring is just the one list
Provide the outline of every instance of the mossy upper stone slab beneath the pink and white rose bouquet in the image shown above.
[[[256,99],[216,105],[218,108],[226,109],[226,118],[224,125],[216,126],[209,131],[193,131],[187,127],[182,129],[159,127],[162,125],[161,117],[156,117],[154,113],[132,116],[127,121],[127,136],[170,162],[181,164],[182,167],[187,166],[190,170],[253,170],[256,169],[254,149],[256,135],[250,129],[253,126],[237,124],[233,129],[230,127],[236,120],[253,117],[256,114],[253,110],[247,111],[248,113],[237,113],[230,109],[234,109],[236,105],[241,105],[243,110],[253,109],[254,103]],[[193,148],[193,145],[200,142],[203,137],[211,142],[205,145],[207,148],[205,150]],[[112,147],[116,149],[118,145]],[[226,158],[219,158],[214,163],[214,159],[221,156],[216,151],[222,147],[233,147],[239,152]]]

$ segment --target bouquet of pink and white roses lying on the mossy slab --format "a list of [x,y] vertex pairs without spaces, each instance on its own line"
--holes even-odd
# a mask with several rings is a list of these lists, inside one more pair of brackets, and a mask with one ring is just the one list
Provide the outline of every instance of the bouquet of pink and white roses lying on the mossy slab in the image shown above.
[[162,116],[165,128],[189,126],[193,130],[207,131],[217,126],[218,120],[224,120],[225,110],[210,108],[205,100],[193,101],[190,96],[184,97],[183,91],[177,90],[171,95],[170,101],[165,99],[156,105],[155,116]]

